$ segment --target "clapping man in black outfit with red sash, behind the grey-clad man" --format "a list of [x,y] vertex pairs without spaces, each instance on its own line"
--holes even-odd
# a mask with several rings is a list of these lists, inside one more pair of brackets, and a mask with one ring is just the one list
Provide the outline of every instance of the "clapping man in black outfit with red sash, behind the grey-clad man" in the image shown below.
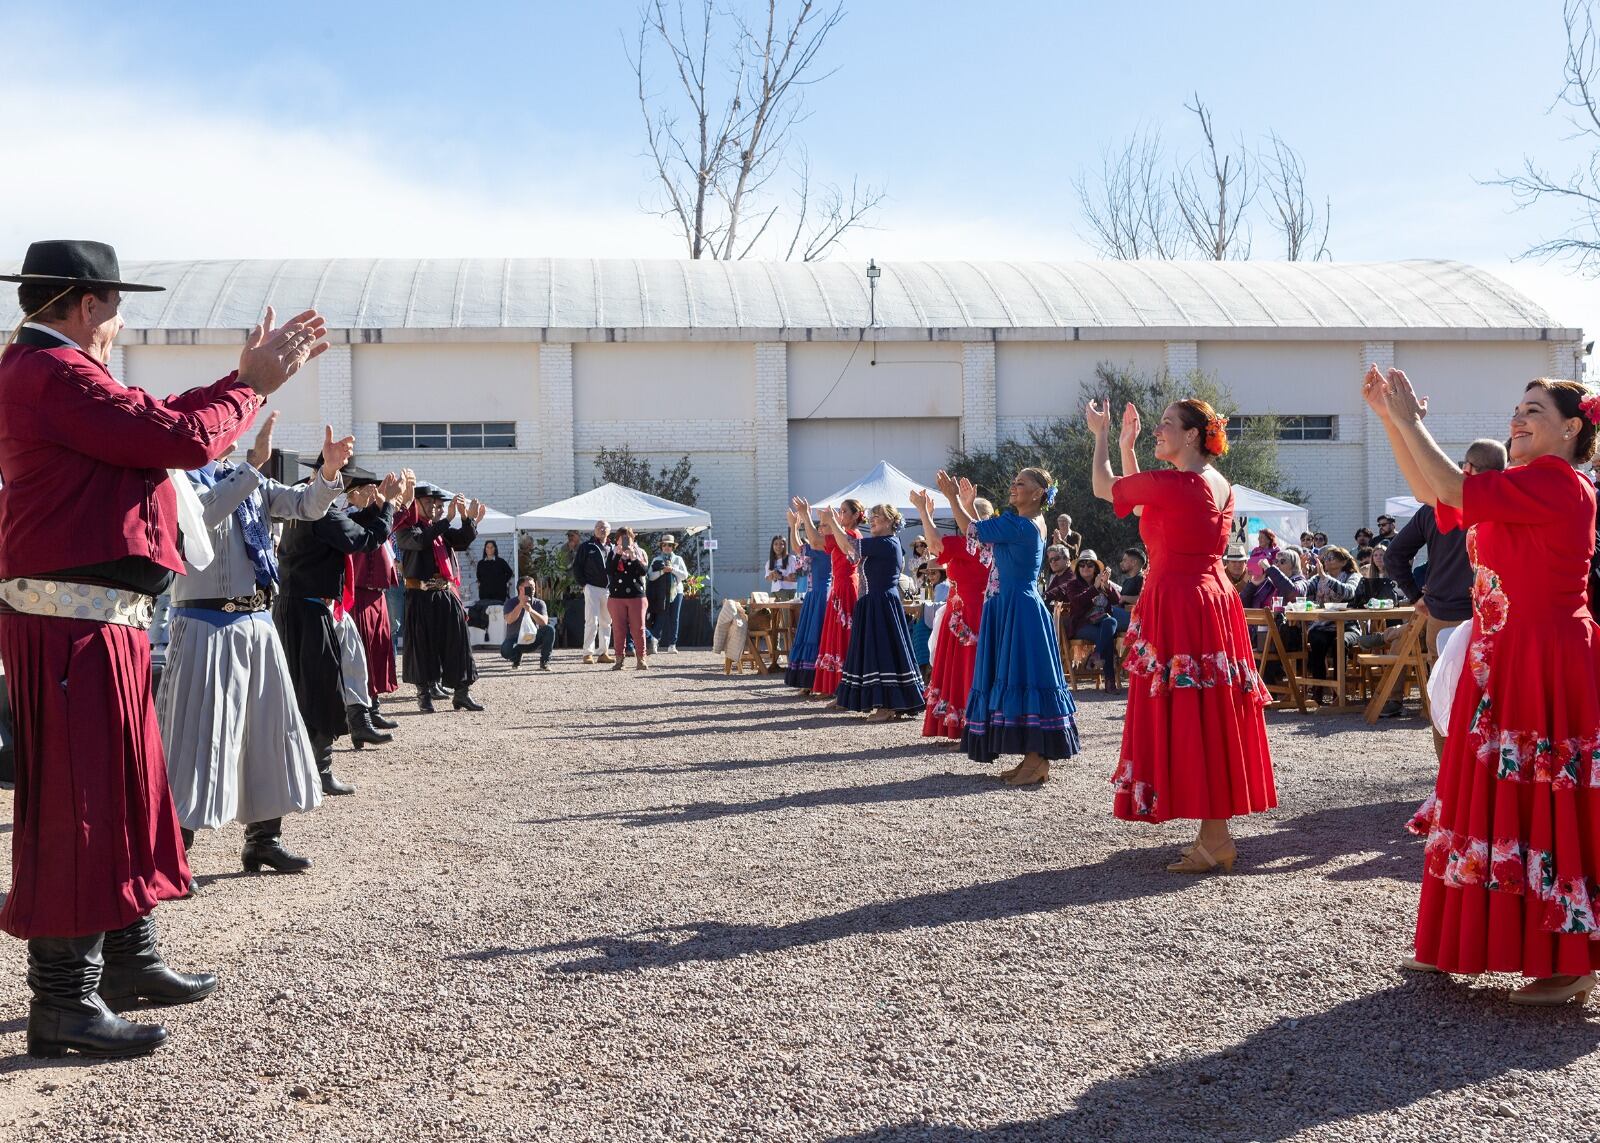
[[[318,456],[315,467],[322,466]],[[320,520],[293,520],[278,546],[282,589],[272,620],[283,640],[294,680],[294,700],[322,775],[323,794],[354,794],[355,788],[333,776],[333,744],[349,732],[344,709],[344,676],[339,669],[339,632],[334,608],[354,602],[355,584],[346,581],[346,557],[371,552],[389,539],[400,477],[381,479],[354,464],[344,466],[344,487],[379,485],[378,499],[358,512],[334,507]],[[346,596],[350,592],[350,597]]]

